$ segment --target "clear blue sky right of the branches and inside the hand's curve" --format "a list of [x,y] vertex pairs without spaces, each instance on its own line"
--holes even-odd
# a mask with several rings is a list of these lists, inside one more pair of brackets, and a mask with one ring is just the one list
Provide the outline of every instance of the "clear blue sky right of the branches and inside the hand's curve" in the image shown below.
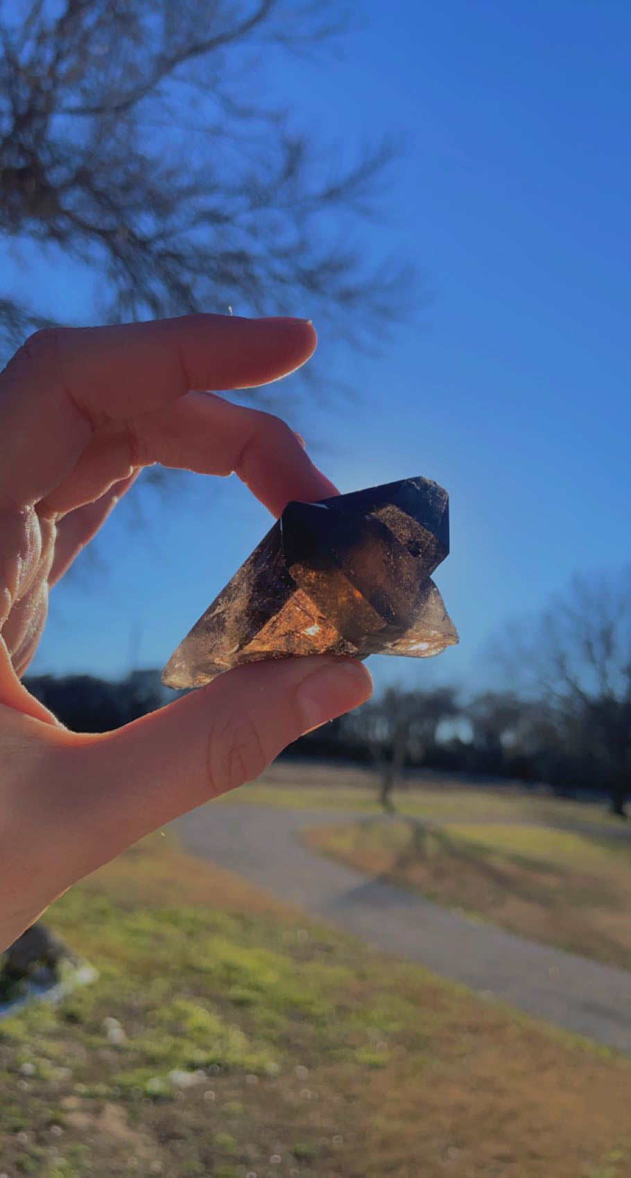
[[[364,7],[346,60],[275,59],[269,85],[320,141],[402,135],[387,224],[362,239],[410,257],[427,297],[377,359],[338,356],[321,332],[356,397],[317,410],[293,378],[285,416],[342,490],[415,474],[449,490],[436,582],[461,644],[370,664],[380,682],[475,686],[507,618],[630,560],[631,6]],[[55,291],[80,317],[78,298],[70,279]],[[144,492],[149,531],[130,512],[107,524],[101,565],[55,590],[33,671],[166,661],[269,522],[232,479],[201,483]]]

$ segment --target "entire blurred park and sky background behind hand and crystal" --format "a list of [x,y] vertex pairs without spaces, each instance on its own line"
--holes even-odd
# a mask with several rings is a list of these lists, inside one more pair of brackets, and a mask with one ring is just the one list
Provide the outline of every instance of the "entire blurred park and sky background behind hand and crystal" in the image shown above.
[[[313,318],[244,397],[342,491],[447,488],[460,633],[9,953],[0,1176],[631,1174],[630,35],[622,0],[0,0],[0,360]],[[167,702],[268,527],[146,472],[31,689],[85,732]]]

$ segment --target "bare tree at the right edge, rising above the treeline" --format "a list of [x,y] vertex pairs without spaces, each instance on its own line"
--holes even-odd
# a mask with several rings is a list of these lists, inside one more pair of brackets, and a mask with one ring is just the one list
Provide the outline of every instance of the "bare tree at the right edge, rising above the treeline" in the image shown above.
[[[577,577],[506,641],[513,684],[532,704],[538,742],[592,767],[625,816],[631,793],[631,567]],[[537,708],[537,703],[539,707]]]

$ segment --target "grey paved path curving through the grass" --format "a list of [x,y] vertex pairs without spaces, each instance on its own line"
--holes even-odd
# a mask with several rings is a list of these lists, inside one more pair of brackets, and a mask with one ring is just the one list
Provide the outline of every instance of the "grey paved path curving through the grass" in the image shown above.
[[205,806],[176,822],[184,845],[307,912],[528,1014],[631,1052],[631,973],[535,945],[303,847],[343,810]]

